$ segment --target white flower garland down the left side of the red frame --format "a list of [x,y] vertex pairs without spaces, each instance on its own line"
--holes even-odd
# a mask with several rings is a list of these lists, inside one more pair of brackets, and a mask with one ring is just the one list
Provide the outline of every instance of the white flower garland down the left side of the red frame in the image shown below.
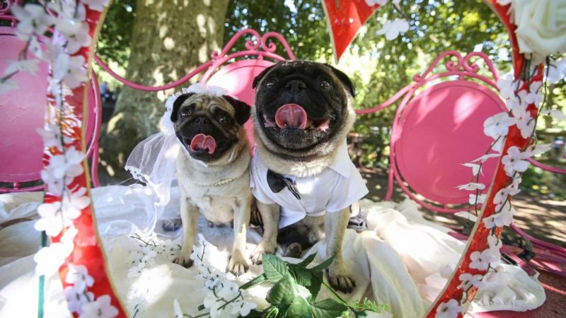
[[[81,216],[81,211],[90,203],[84,187],[69,187],[74,178],[82,175],[83,152],[73,146],[72,130],[78,128],[81,122],[72,116],[72,110],[65,101],[71,90],[84,85],[88,81],[85,59],[73,56],[83,47],[90,47],[91,36],[86,23],[86,6],[94,11],[103,11],[108,0],[59,0],[50,2],[47,6],[40,4],[25,4],[13,6],[11,12],[18,20],[16,35],[25,41],[25,48],[20,59],[8,61],[8,67],[0,78],[0,94],[18,88],[13,76],[20,71],[34,74],[39,68],[40,60],[47,61],[52,66],[52,78],[48,87],[52,95],[51,105],[58,110],[38,133],[44,140],[45,147],[53,155],[49,165],[41,171],[45,182],[46,194],[58,199],[51,203],[41,204],[37,208],[40,218],[35,223],[35,229],[45,231],[51,237],[62,234],[59,242],[48,247],[42,247],[34,256],[37,262],[38,275],[53,276],[59,271],[65,260],[74,249],[74,237],[77,230],[73,221]],[[54,18],[47,10],[52,11]],[[40,37],[53,28],[53,37],[45,43],[45,52],[40,47]],[[37,59],[28,59],[31,52]],[[56,124],[52,124],[56,123]],[[111,318],[118,314],[116,307],[110,303],[109,295],[101,295],[97,299],[88,288],[93,286],[94,279],[88,274],[86,266],[67,264],[64,289],[69,311],[79,314],[80,318],[103,317]],[[46,307],[46,310],[48,308]]]

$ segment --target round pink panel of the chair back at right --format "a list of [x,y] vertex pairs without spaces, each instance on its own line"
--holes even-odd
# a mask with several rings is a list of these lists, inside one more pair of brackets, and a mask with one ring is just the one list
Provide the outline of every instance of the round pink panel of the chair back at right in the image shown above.
[[[400,175],[418,194],[441,204],[463,204],[471,181],[462,164],[483,155],[492,139],[483,134],[487,117],[504,109],[492,90],[470,81],[431,86],[413,98],[400,115],[394,153]],[[496,159],[487,160],[480,182],[490,184]]]

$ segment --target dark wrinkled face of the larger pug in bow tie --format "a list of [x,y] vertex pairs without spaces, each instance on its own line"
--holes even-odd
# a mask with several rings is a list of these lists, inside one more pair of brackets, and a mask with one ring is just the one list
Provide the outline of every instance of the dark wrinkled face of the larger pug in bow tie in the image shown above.
[[275,64],[255,78],[253,87],[262,139],[296,153],[311,152],[342,131],[354,95],[345,73],[312,61]]

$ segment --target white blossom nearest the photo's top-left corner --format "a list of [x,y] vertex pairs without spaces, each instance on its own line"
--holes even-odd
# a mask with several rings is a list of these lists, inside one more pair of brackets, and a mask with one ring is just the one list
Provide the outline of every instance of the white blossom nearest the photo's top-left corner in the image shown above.
[[21,40],[27,41],[33,34],[42,35],[54,23],[54,18],[39,4],[26,4],[23,8],[13,6],[11,11],[18,19],[16,35]]

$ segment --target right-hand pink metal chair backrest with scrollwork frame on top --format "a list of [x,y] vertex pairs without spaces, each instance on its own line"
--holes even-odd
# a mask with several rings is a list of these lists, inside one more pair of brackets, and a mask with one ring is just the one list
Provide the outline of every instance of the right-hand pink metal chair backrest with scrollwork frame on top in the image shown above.
[[[446,57],[446,71],[433,73]],[[472,58],[483,61],[492,79],[480,75]],[[456,187],[472,181],[471,170],[463,163],[483,155],[493,142],[483,134],[483,122],[505,110],[497,93],[497,78],[492,62],[483,53],[462,57],[458,52],[444,52],[427,71],[414,77],[415,83],[372,109],[400,99],[391,131],[386,199],[391,199],[395,179],[403,192],[434,211],[454,213],[460,209],[450,205],[468,202],[469,193]],[[495,161],[483,165],[480,182],[490,184]]]

